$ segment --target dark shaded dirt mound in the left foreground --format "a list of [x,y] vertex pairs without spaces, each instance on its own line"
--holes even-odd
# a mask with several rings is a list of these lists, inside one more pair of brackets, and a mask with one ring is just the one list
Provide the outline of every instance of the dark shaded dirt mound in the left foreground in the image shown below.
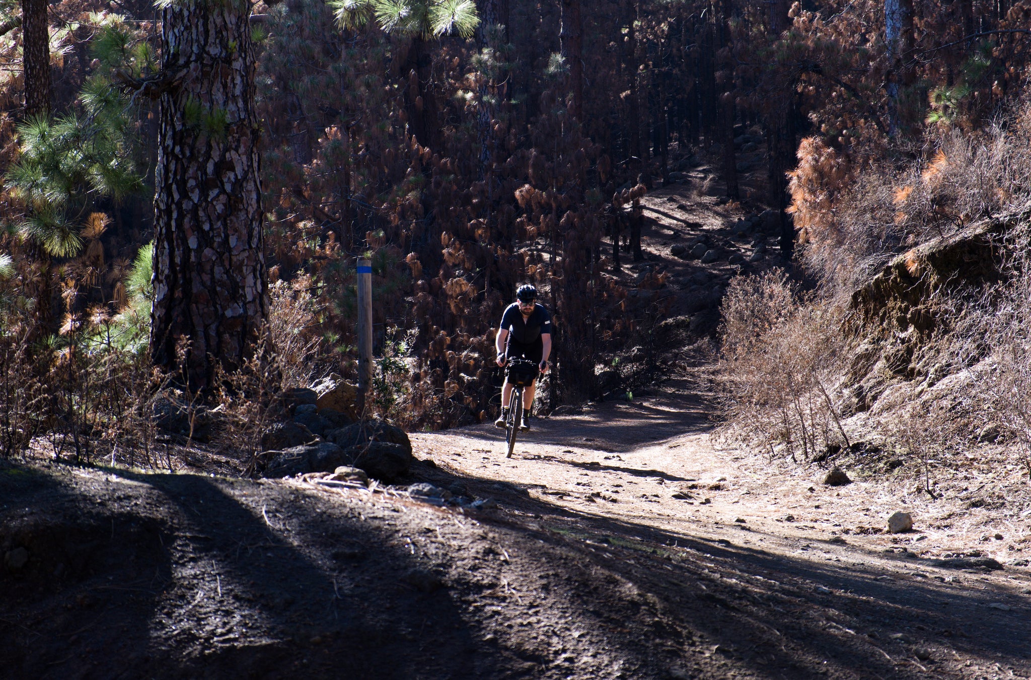
[[0,562],[10,677],[504,674],[450,592],[407,585],[415,556],[360,514],[243,481],[82,477],[0,467],[0,557],[30,555]]

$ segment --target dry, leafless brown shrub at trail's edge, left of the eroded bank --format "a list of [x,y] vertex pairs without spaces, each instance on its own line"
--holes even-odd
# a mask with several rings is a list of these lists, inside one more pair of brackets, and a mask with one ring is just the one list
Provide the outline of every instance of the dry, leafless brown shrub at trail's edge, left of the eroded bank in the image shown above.
[[849,446],[832,397],[845,350],[841,309],[770,271],[732,280],[723,310],[725,434],[793,460]]

